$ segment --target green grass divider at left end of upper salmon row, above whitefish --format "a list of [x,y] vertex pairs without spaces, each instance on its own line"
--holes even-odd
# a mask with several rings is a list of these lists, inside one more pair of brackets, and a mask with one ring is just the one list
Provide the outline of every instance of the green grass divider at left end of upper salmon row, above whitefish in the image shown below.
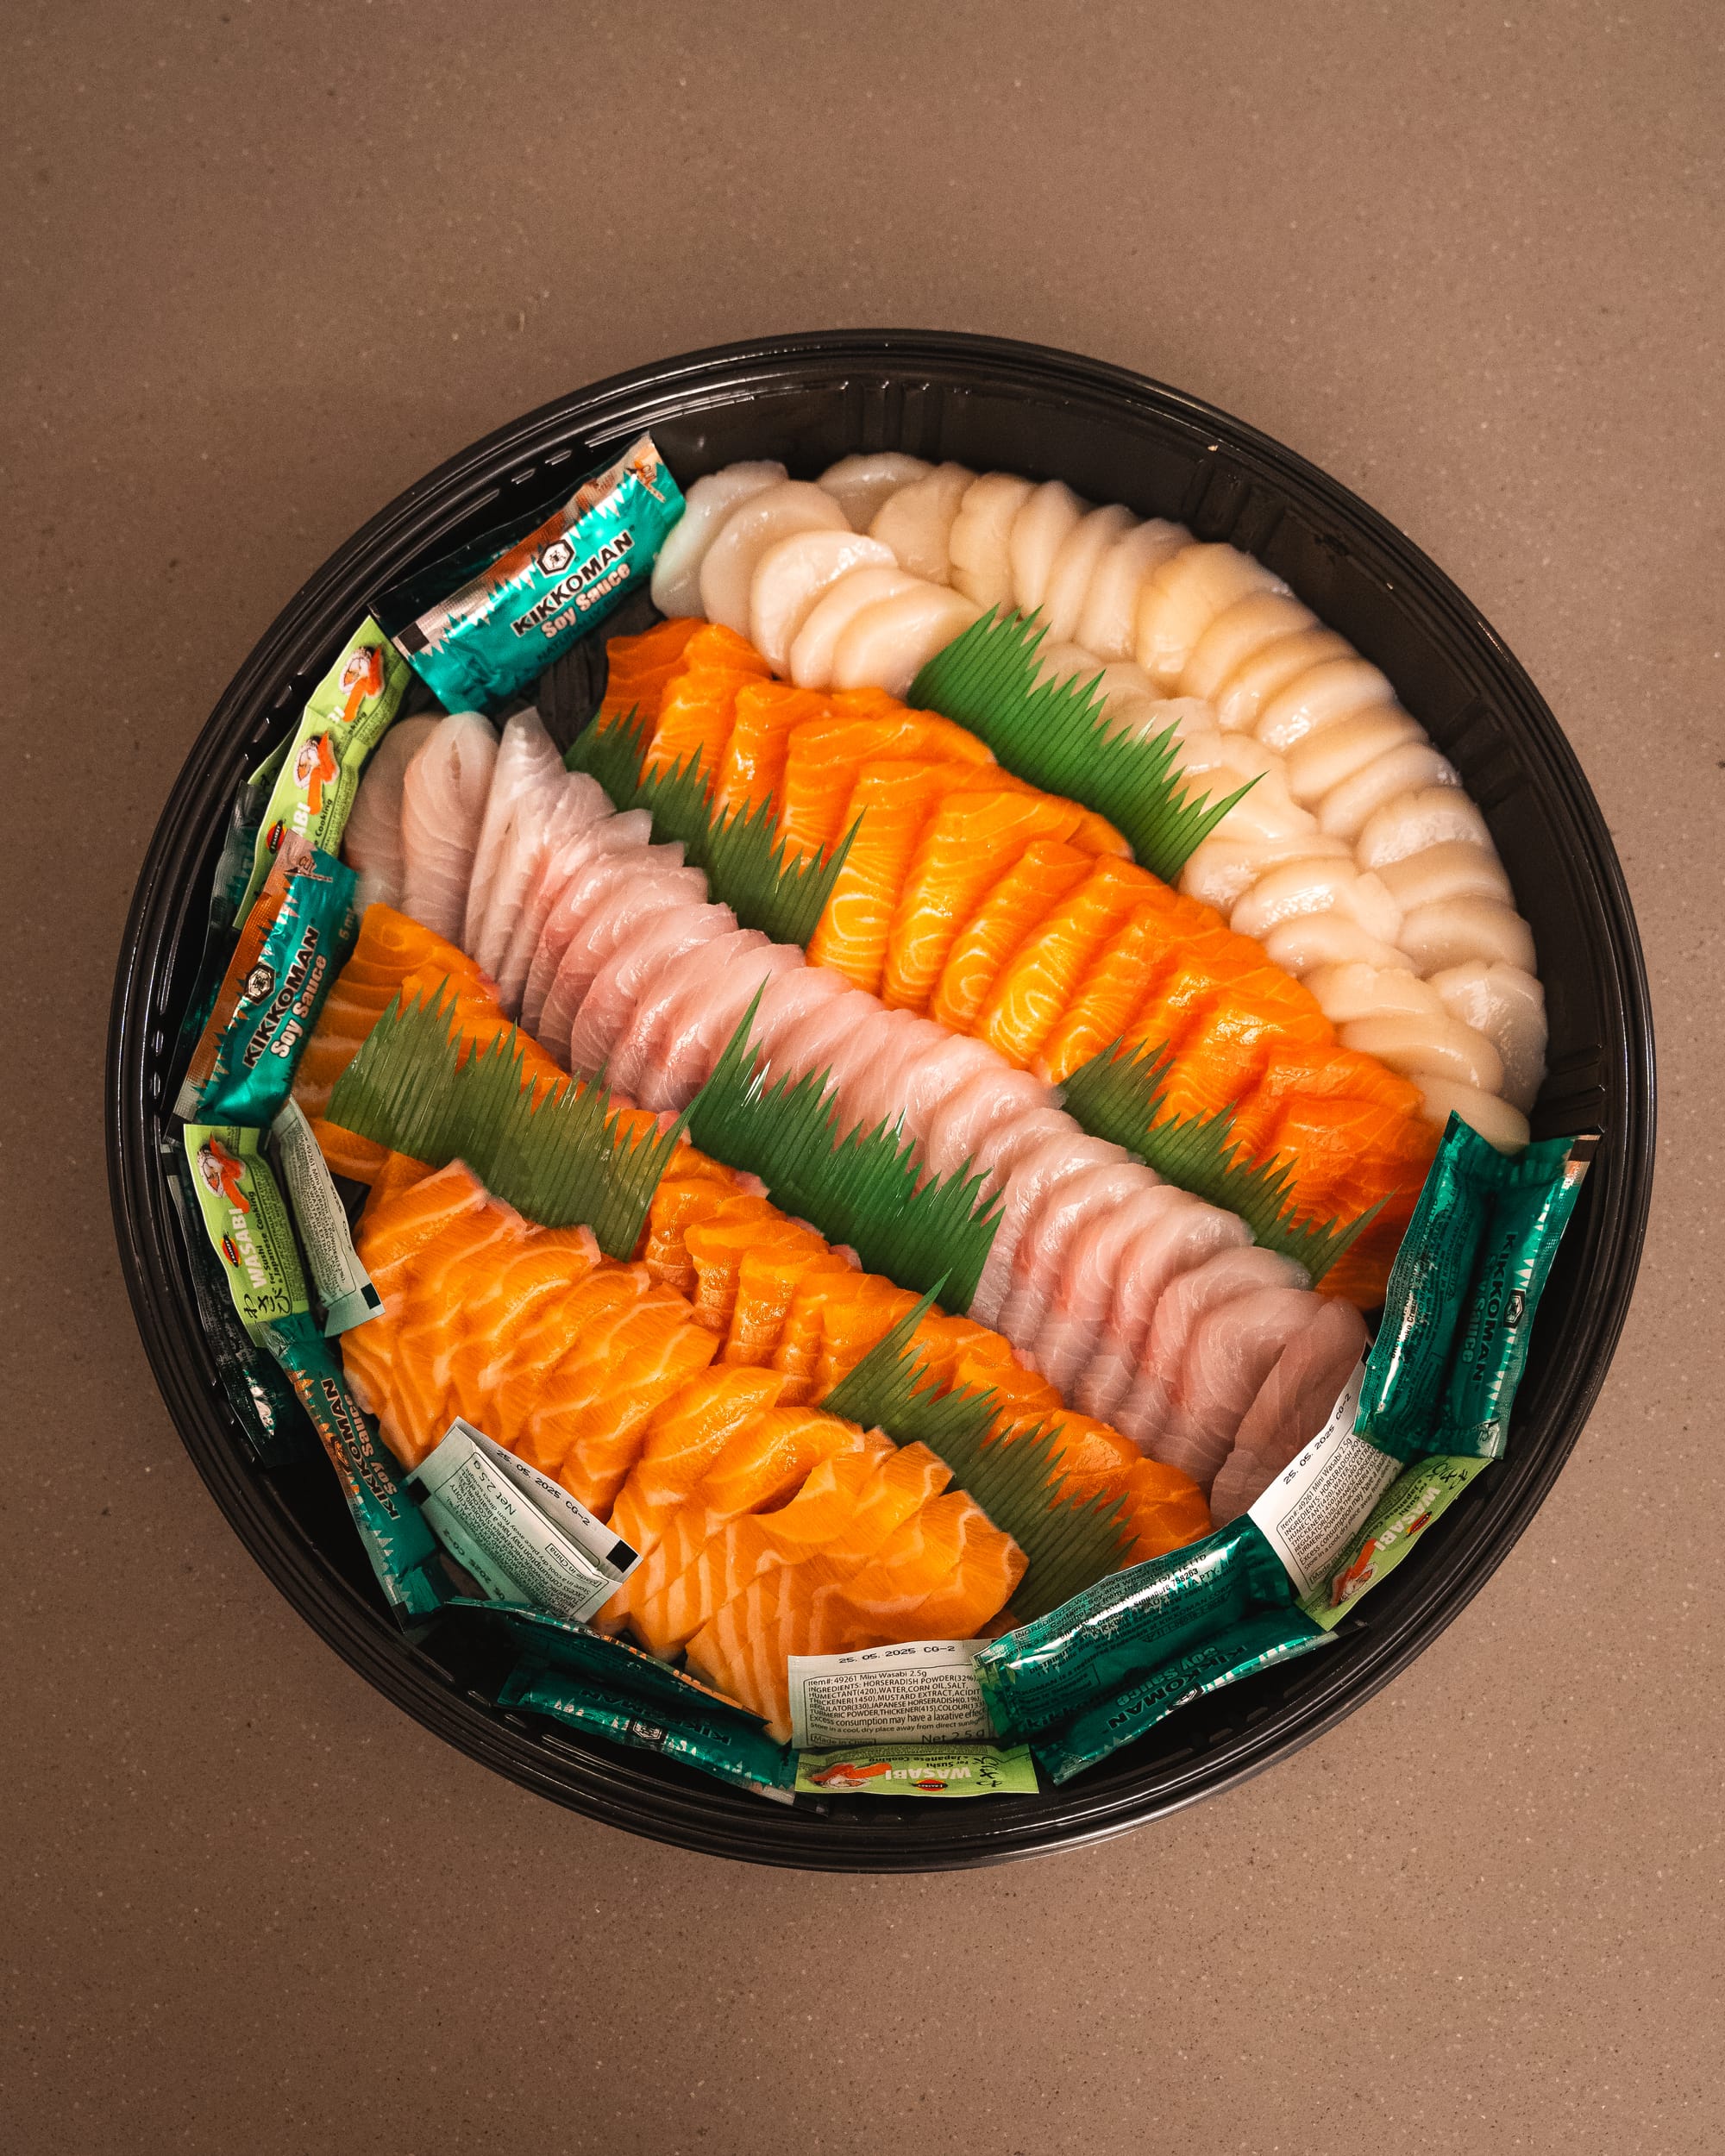
[[778,804],[768,796],[753,808],[729,815],[714,808],[701,772],[701,750],[675,770],[645,772],[651,722],[640,711],[589,727],[563,759],[571,772],[589,772],[619,808],[645,808],[656,839],[681,839],[684,858],[705,871],[714,899],[742,927],[761,929],[774,942],[806,944],[826,912],[832,886],[850,854],[852,826],[830,854],[789,860],[787,841],[774,839]]

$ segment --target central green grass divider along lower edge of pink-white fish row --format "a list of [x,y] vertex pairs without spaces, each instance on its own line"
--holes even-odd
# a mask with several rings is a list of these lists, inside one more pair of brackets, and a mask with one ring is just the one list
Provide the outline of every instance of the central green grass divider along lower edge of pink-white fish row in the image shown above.
[[826,1072],[768,1084],[750,1046],[759,1003],[757,990],[690,1102],[690,1141],[759,1175],[781,1212],[850,1244],[867,1272],[914,1294],[944,1283],[949,1304],[968,1311],[1000,1220],[998,1201],[981,1197],[983,1177],[960,1169],[919,1184],[916,1145],[897,1125],[841,1134]]

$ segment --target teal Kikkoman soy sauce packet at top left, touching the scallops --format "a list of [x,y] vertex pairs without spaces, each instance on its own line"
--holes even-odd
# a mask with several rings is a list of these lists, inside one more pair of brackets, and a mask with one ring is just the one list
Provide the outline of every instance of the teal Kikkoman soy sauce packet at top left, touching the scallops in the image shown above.
[[[496,528],[489,550],[477,541],[446,556],[377,610],[444,709],[494,709],[647,582],[681,513],[677,481],[643,433],[526,535],[520,522]],[[485,567],[472,576],[477,554]],[[427,589],[440,604],[423,606]]]

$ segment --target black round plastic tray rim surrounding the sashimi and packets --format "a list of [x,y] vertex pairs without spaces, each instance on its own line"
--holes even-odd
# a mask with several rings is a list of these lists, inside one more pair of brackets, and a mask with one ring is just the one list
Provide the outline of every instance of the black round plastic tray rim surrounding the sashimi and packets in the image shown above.
[[[198,1328],[162,1179],[168,1056],[235,787],[382,589],[561,500],[643,429],[686,485],[737,457],[811,479],[852,451],[903,448],[1063,479],[1264,558],[1382,666],[1462,772],[1540,951],[1550,1078],[1535,1134],[1604,1132],[1540,1311],[1509,1457],[1333,1647],[1182,1708],[1037,1798],[781,1807],[496,1708],[483,1628],[440,1619],[403,1639],[321,1464],[248,1464]],[[1652,1056],[1634,918],[1587,780],[1503,640],[1402,533],[1276,442],[1123,369],[981,336],[822,332],[696,351],[546,405],[410,487],[291,599],[175,780],[138,882],[114,987],[108,1160],[132,1302],[185,1449],[252,1557],[380,1692],[500,1774],[630,1833],[755,1863],[921,1871],[1100,1841],[1227,1789],[1376,1692],[1477,1593],[1576,1442],[1624,1324],[1652,1184]]]

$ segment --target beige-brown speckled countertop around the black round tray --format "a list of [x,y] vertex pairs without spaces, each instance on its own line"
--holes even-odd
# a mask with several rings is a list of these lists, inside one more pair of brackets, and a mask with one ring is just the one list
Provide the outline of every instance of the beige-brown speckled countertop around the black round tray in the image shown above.
[[[0,2145],[1725,2145],[1721,28],[9,11]],[[157,1401],[99,1128],[138,860],[300,580],[548,397],[841,323],[1119,360],[1408,528],[1581,752],[1662,1061],[1628,1332],[1460,1621],[1227,1798],[921,1880],[627,1839],[351,1675]]]

